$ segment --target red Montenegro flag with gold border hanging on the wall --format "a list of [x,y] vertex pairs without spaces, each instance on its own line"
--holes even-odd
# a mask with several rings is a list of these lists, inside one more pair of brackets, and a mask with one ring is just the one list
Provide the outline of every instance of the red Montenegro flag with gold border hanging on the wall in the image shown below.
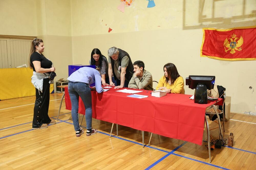
[[231,29],[203,28],[201,57],[256,60],[256,26]]

